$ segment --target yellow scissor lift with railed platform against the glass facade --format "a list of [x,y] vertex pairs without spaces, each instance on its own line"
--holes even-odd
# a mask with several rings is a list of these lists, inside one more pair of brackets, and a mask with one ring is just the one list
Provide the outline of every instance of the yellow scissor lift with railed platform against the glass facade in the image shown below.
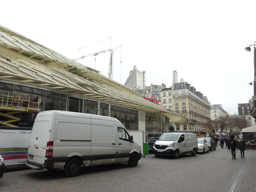
[[17,127],[12,122],[20,121],[20,118],[14,117],[17,113],[38,113],[39,104],[42,97],[27,93],[15,93],[0,91],[0,117],[3,116],[9,120],[0,120],[0,125]]

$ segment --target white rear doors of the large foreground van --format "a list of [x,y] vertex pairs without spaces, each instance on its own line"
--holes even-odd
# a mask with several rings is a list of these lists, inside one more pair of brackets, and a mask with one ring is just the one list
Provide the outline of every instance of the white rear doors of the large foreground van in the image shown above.
[[29,141],[29,161],[44,164],[46,145],[50,138],[51,119],[52,111],[41,112],[36,116]]

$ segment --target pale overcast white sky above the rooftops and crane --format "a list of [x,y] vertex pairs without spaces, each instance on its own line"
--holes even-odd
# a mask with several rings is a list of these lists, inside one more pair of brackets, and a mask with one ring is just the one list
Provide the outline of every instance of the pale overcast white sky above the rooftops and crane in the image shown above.
[[[253,52],[244,48],[256,41],[256,1],[12,0],[1,7],[0,25],[70,59],[111,48],[110,40],[100,46],[111,37],[112,48],[122,45],[113,62],[119,83],[137,65],[147,86],[170,87],[176,70],[230,114],[252,98]],[[77,61],[108,76],[109,53]]]

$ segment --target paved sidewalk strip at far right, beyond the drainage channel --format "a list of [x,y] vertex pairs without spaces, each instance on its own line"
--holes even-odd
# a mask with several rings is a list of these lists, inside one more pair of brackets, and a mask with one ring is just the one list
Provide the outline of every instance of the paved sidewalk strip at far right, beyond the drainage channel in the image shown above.
[[[244,151],[245,158],[247,157],[246,152],[249,150],[250,149]],[[255,192],[256,191],[256,150],[250,150],[250,151],[251,151],[251,156],[250,156],[249,163],[248,163],[248,166],[247,166],[247,169],[245,172],[241,192]]]

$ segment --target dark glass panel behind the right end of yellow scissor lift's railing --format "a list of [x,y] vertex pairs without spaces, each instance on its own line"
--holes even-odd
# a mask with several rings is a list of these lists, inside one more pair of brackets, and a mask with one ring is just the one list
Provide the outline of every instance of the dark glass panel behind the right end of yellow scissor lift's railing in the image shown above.
[[[36,88],[32,88],[32,87],[25,87],[25,86],[21,86],[21,85],[15,85],[14,87],[14,92],[15,93],[27,93],[27,94],[31,94],[31,98],[30,101],[36,100],[35,95],[37,96],[41,96],[42,100],[41,103],[39,104],[39,108],[40,111],[44,111],[44,100],[45,100],[45,91],[41,90],[41,89],[36,89]],[[15,94],[14,96],[19,96],[19,94]],[[24,97],[24,100],[27,100],[28,97]]]

